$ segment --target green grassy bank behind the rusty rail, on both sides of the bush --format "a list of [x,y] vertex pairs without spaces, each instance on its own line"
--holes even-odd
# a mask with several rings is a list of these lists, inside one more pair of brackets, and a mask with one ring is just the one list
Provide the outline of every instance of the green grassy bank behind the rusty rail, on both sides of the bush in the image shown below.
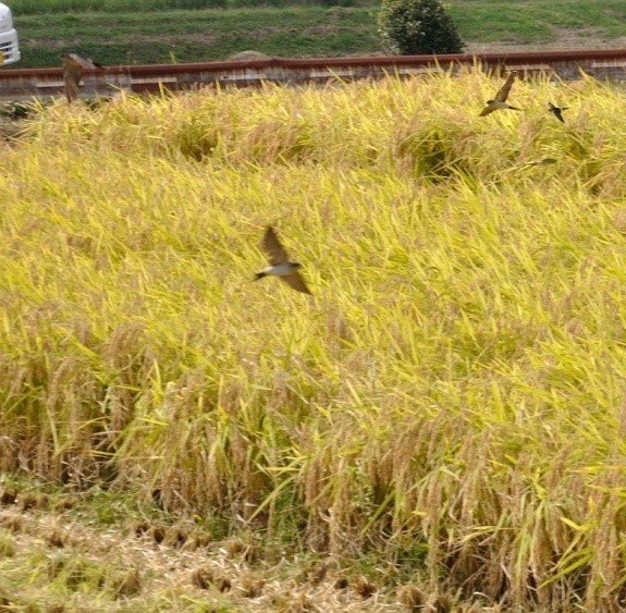
[[[250,49],[282,57],[380,52],[377,2],[282,8],[229,2],[226,9],[186,10],[191,5],[197,3],[171,2],[163,10],[161,2],[111,0],[95,12],[93,2],[78,0],[47,3],[42,12],[39,0],[13,2],[22,49],[13,68],[56,66],[67,50],[110,65],[225,60]],[[464,0],[453,2],[451,13],[466,42],[532,45],[555,40],[564,30],[626,36],[619,0]]]

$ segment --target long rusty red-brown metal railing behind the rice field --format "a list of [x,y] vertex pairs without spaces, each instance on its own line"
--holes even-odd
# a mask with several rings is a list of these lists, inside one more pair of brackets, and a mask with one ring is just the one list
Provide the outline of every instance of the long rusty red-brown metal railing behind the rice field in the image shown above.
[[[518,70],[523,73],[552,72],[563,79],[577,78],[580,71],[597,78],[626,81],[626,49],[544,51],[533,53],[477,53],[450,56],[392,56],[347,58],[262,58],[245,61],[189,64],[110,66],[85,71],[83,96],[109,96],[125,89],[154,93],[160,88],[180,90],[198,85],[258,85],[261,82],[317,83],[353,81],[385,74],[456,71],[477,65],[481,70]],[[22,100],[59,96],[63,90],[62,69],[0,71],[0,98]]]

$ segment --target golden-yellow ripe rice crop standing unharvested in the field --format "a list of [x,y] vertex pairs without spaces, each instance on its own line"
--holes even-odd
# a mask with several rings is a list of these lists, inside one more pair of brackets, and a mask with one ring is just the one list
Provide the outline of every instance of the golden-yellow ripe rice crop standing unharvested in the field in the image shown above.
[[[2,469],[367,560],[376,593],[617,609],[623,94],[478,118],[500,84],[41,111],[0,162]],[[312,297],[249,282],[267,223]]]

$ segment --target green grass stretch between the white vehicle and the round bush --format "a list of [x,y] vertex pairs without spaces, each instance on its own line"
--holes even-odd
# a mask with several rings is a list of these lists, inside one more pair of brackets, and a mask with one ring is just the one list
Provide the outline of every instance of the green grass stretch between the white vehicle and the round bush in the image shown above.
[[23,56],[15,68],[59,65],[59,54],[70,49],[121,64],[223,60],[249,49],[298,57],[378,47],[373,8],[170,11],[149,21],[140,13],[52,14],[15,22]]

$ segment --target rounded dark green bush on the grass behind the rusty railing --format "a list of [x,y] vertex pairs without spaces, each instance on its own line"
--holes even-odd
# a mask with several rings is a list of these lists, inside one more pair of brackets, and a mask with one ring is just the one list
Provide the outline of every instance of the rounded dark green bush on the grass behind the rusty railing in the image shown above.
[[463,51],[463,40],[441,0],[382,0],[378,30],[384,50],[396,56]]

